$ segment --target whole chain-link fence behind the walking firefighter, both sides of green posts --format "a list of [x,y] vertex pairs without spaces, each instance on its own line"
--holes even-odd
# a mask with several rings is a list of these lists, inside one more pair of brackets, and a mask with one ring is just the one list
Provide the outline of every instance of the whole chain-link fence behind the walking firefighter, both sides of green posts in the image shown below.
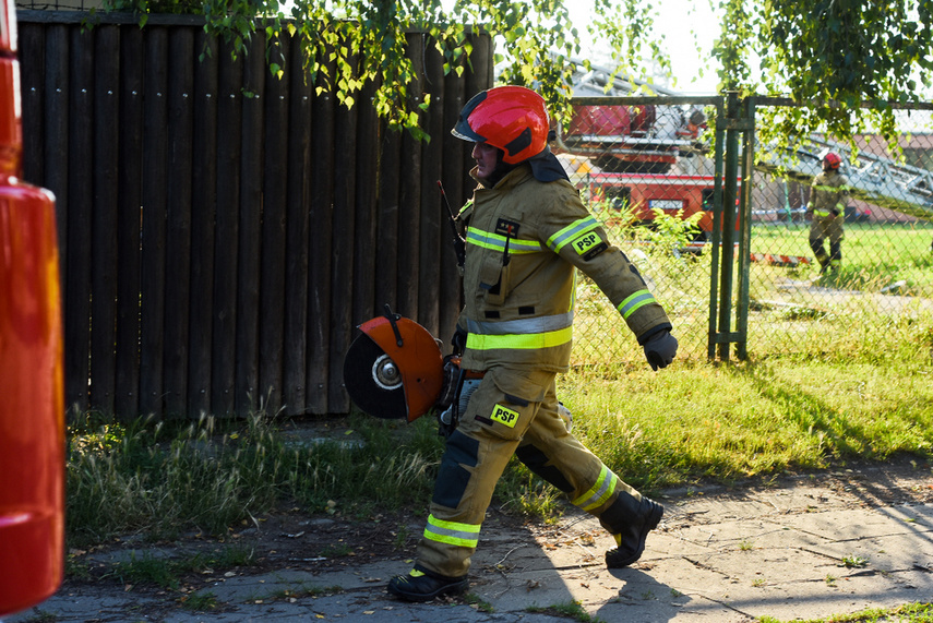
[[[680,356],[706,358],[717,296],[710,292],[717,278],[714,205],[721,201],[716,171],[722,168],[705,130],[717,108],[683,98],[673,105],[607,99],[575,106],[573,122],[560,132],[559,157],[665,305]],[[741,206],[749,216],[740,214],[734,237],[741,238],[747,218],[752,357],[832,350],[853,336],[889,331],[892,323],[933,318],[933,134],[929,113],[916,112],[904,118],[900,154],[874,135],[860,136],[856,149],[814,137],[754,169],[750,205]],[[812,178],[828,151],[842,157],[841,172],[852,188],[836,274],[821,273],[805,214]],[[738,243],[735,249],[738,260]],[[737,262],[734,271],[741,275],[742,265]],[[735,309],[745,304],[738,293],[732,300]],[[641,361],[618,312],[583,276],[576,310],[574,364]]]

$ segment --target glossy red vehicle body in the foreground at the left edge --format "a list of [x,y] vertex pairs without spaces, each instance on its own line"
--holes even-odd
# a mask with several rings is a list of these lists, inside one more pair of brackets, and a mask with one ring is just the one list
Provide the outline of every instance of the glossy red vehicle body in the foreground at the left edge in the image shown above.
[[0,3],[0,616],[64,565],[64,394],[55,199],[20,180],[16,9]]

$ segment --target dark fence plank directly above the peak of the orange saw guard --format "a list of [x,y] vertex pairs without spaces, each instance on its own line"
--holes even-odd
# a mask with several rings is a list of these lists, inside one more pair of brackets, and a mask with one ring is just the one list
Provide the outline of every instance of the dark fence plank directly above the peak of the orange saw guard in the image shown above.
[[[408,35],[408,49],[421,49],[421,36]],[[412,72],[422,75],[423,62],[420,53],[411,55]],[[409,85],[408,92],[420,94],[421,84]],[[414,103],[417,105],[417,101]],[[418,279],[421,267],[421,143],[411,134],[402,134],[402,157],[398,196],[398,292],[393,310],[418,321]]]

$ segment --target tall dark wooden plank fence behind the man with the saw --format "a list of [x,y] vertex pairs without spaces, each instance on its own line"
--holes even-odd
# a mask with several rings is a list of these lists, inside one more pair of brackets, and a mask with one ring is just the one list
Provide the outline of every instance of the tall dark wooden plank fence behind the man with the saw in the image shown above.
[[346,412],[343,356],[384,303],[446,338],[460,292],[436,181],[455,204],[471,190],[448,130],[492,84],[488,37],[456,77],[409,35],[432,101],[419,143],[368,93],[350,110],[316,96],[287,39],[278,80],[196,19],[86,17],[19,12],[24,178],[58,200],[70,409]]

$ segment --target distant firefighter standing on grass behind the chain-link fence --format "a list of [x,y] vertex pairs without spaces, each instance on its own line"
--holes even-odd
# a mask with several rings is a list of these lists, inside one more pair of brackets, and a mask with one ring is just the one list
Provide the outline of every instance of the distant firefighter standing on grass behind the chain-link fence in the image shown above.
[[[820,262],[820,274],[836,276],[842,264],[842,221],[849,199],[848,180],[839,172],[842,158],[835,152],[823,156],[823,172],[813,178],[805,217],[810,224],[810,248]],[[829,253],[823,241],[829,240]]]

